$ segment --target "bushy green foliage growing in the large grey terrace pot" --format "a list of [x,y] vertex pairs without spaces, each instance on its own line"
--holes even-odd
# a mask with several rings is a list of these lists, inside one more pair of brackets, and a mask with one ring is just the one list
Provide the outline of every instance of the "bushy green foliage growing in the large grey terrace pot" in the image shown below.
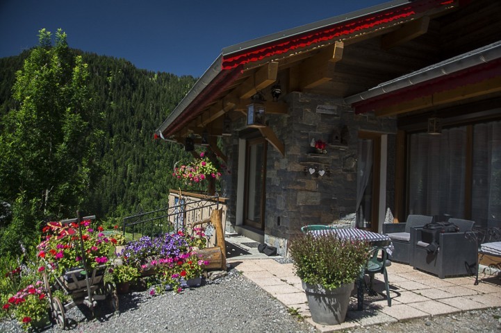
[[366,241],[340,239],[336,234],[301,234],[290,244],[297,276],[309,284],[335,289],[353,282],[369,257]]

